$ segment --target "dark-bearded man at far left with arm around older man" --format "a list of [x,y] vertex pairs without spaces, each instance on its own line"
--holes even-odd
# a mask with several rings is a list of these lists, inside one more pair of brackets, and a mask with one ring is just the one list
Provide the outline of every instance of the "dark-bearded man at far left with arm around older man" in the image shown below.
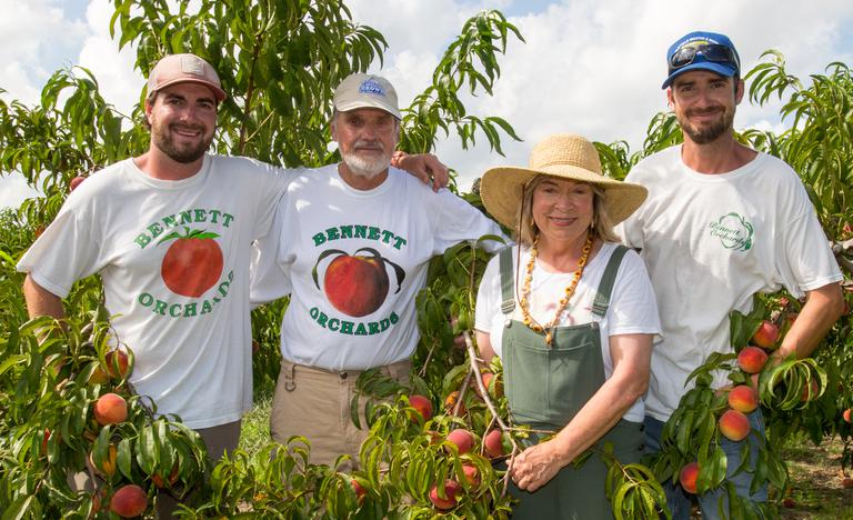
[[[149,150],[87,179],[18,264],[31,317],[62,318],[71,286],[99,273],[116,337],[136,354],[131,382],[199,431],[213,460],[237,448],[252,406],[251,244],[304,173],[208,154],[224,99],[203,59],[160,60],[148,80]],[[446,181],[432,156],[403,160]]]

